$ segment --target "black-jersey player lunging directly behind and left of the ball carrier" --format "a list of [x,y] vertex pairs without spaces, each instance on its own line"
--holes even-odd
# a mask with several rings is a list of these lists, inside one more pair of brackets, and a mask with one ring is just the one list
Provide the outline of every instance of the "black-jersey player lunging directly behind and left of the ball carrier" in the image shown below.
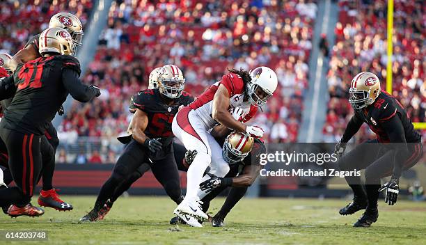
[[184,92],[182,72],[176,65],[164,65],[159,72],[158,88],[143,90],[134,97],[136,107],[132,119],[132,136],[114,166],[111,177],[104,183],[97,200],[80,221],[97,221],[106,214],[104,207],[115,189],[143,164],[149,163],[152,173],[175,203],[183,199],[180,176],[173,155],[171,123],[181,106],[194,98]]

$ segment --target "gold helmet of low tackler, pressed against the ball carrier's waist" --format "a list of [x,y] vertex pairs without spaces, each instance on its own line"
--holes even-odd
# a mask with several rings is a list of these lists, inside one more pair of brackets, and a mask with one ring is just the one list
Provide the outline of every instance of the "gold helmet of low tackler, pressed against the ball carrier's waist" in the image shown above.
[[225,139],[222,156],[229,164],[236,164],[247,157],[253,147],[254,139],[242,133],[232,132]]

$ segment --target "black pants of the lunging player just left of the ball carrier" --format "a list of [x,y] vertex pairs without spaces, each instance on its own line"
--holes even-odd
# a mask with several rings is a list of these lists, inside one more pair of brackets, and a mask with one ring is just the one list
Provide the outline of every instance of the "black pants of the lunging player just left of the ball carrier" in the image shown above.
[[116,191],[117,187],[120,188],[123,180],[127,180],[127,183],[134,180],[135,175],[137,176],[135,172],[145,162],[149,162],[152,173],[164,187],[168,196],[170,196],[175,203],[180,203],[182,201],[180,176],[173,151],[169,152],[164,158],[156,159],[152,162],[148,159],[148,151],[149,150],[145,148],[145,146],[139,144],[134,139],[125,146],[123,154],[120,155],[116,166],[113,168],[113,173],[100,189],[94,207],[95,210],[100,210],[108,199],[113,199],[114,191]]

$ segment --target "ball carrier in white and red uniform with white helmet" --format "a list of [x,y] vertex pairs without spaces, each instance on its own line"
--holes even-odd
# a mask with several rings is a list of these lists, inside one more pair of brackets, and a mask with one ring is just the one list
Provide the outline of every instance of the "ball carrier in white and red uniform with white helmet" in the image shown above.
[[[244,122],[255,115],[258,107],[266,104],[277,86],[275,72],[265,66],[251,72],[230,70],[221,81],[210,86],[176,114],[172,124],[173,134],[187,150],[197,151],[187,172],[186,196],[174,211],[181,219],[187,215],[207,219],[207,214],[200,208],[200,198],[205,195],[199,189],[200,182],[204,181],[203,174],[208,166],[209,173],[217,177],[224,177],[229,171],[228,162],[222,157],[222,148],[210,135],[210,130],[221,124],[235,132],[261,138],[263,129],[245,125]],[[232,116],[232,111],[237,107],[244,110],[241,120]]]

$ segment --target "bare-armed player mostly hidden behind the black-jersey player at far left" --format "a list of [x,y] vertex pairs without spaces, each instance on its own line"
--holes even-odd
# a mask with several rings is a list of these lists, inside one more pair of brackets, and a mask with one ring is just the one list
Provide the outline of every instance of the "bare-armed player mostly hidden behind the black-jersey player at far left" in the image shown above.
[[[71,55],[75,56],[77,54],[77,47],[81,45],[81,40],[83,38],[83,26],[78,17],[72,15],[71,13],[57,13],[50,18],[49,28],[59,27],[63,28],[68,33],[71,34],[72,46],[71,46]],[[10,68],[11,71],[15,71],[19,63],[26,63],[27,61],[32,61],[33,59],[41,57],[39,49],[39,37],[40,34],[33,36],[23,49],[19,50],[15,56],[11,58],[6,65]],[[12,100],[3,100],[1,104],[3,108],[6,108]],[[59,115],[63,114],[63,107],[58,110]],[[52,122],[49,122],[49,127],[47,127],[45,132],[45,137],[47,141],[54,148],[59,144],[58,135],[56,129]],[[43,165],[42,167],[42,189],[40,190],[40,196],[38,198],[38,204],[44,207],[52,207],[56,210],[72,210],[72,205],[65,203],[61,198],[59,198],[56,190],[52,184],[52,178],[54,175],[55,165]]]

